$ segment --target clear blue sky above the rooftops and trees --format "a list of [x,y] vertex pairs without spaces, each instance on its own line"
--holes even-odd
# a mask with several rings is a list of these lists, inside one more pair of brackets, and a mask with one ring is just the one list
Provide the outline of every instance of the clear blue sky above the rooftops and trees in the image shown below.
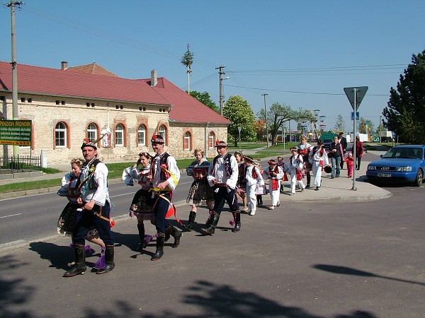
[[[181,57],[190,45],[191,90],[208,92],[218,106],[216,68],[225,66],[225,101],[240,95],[255,115],[275,102],[319,110],[327,130],[339,114],[353,130],[344,88],[358,86],[368,86],[360,116],[378,126],[390,88],[412,54],[425,49],[423,0],[23,2],[15,18],[18,64],[60,69],[61,61],[96,62],[133,79],[156,69],[188,90]],[[0,23],[0,60],[11,61],[7,6]]]

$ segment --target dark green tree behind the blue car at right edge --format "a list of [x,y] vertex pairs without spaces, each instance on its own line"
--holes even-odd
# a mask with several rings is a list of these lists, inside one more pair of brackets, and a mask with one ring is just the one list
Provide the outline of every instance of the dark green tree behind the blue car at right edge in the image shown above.
[[425,50],[412,55],[412,64],[401,74],[397,89],[390,89],[390,100],[382,114],[384,125],[399,141],[425,143]]

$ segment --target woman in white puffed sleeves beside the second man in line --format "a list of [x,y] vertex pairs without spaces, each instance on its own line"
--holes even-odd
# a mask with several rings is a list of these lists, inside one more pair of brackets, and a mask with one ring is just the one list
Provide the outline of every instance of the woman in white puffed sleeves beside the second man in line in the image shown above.
[[[152,155],[149,155],[149,153],[139,153],[139,159],[137,163],[133,165],[130,172],[133,179],[142,187],[133,197],[129,211],[131,218],[137,218],[137,231],[139,232],[140,245],[137,247],[136,251],[139,252],[147,246],[147,243],[152,238],[151,236],[147,236],[145,239],[145,224],[143,221],[149,220],[153,225],[155,224],[152,194],[149,192],[149,189],[152,187],[152,182],[147,179],[151,174],[149,169],[151,159]],[[139,165],[142,165],[140,169],[138,168]]]

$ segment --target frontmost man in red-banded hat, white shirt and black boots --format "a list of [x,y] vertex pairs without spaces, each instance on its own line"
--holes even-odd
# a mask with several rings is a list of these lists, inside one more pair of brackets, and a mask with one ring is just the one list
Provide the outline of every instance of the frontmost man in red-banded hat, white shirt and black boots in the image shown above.
[[84,252],[84,237],[94,225],[99,236],[105,243],[106,266],[98,269],[97,274],[108,273],[115,267],[113,237],[111,235],[110,212],[111,201],[108,193],[108,167],[98,160],[96,141],[91,143],[84,139],[81,146],[84,159],[80,175],[80,197],[77,204],[83,205],[81,218],[74,227],[75,266],[64,273],[64,277],[83,274],[86,271],[86,254]]

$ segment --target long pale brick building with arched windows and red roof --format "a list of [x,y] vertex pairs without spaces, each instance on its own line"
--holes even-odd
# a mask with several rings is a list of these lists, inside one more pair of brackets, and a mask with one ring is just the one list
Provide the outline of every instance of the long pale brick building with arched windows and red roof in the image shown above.
[[[103,160],[132,160],[149,151],[152,134],[162,134],[176,158],[195,148],[215,154],[227,139],[229,120],[152,70],[147,79],[120,78],[96,63],[61,69],[17,65],[18,118],[32,121],[32,143],[21,154],[47,151],[48,163],[81,157],[84,138],[98,141]],[[12,119],[11,64],[0,61],[4,119]],[[30,149],[31,148],[31,149]],[[4,146],[11,154],[11,146]]]

